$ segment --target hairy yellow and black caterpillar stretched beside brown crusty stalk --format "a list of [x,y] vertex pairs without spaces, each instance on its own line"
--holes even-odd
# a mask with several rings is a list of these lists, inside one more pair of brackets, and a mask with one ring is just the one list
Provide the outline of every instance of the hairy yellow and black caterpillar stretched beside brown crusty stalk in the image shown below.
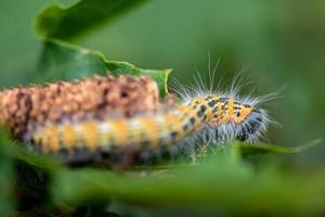
[[142,163],[151,154],[170,151],[180,143],[192,145],[193,140],[258,140],[270,123],[259,102],[240,99],[236,91],[187,92],[180,105],[155,114],[49,124],[31,132],[29,140],[41,153],[58,153],[72,164],[116,164],[125,157]]

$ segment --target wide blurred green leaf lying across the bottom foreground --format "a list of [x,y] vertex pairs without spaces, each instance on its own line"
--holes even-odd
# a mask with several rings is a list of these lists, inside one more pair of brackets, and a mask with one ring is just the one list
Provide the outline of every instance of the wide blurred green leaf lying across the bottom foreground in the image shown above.
[[306,177],[306,174],[285,175],[270,168],[253,171],[246,164],[233,164],[221,157],[165,176],[164,173],[144,176],[93,168],[62,169],[53,177],[51,193],[54,202],[69,205],[118,200],[145,207],[164,204],[164,207],[194,209],[204,206],[226,213],[297,215],[324,210],[324,173]]

